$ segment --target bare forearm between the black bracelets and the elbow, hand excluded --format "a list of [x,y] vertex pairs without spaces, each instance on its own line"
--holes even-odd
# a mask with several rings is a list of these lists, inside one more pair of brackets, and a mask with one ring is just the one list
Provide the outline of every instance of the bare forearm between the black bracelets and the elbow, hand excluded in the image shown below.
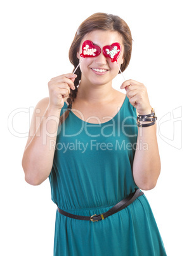
[[150,190],[155,187],[160,174],[156,126],[155,124],[149,127],[138,128],[133,176],[136,185],[144,190]]

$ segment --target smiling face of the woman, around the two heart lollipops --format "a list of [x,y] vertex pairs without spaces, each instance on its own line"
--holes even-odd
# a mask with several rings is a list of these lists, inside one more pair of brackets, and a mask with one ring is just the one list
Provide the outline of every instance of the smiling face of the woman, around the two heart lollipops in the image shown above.
[[[85,57],[82,59],[80,54],[82,53],[82,43],[84,41],[92,41],[94,45],[98,45],[101,48],[101,53],[96,57]],[[93,85],[104,85],[110,83],[112,85],[112,80],[119,73],[119,67],[123,63],[123,52],[119,55],[117,62],[112,62],[111,58],[103,54],[103,47],[107,45],[112,45],[115,42],[122,44],[121,35],[116,31],[93,31],[86,34],[81,41],[79,52],[77,53],[77,58],[82,59],[80,69],[81,69],[81,82],[91,83]]]

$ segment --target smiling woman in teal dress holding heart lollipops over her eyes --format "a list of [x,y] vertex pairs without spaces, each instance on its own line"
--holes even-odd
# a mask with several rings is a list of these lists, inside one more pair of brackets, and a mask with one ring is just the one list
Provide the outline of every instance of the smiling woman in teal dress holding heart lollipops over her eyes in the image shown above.
[[[100,52],[91,57],[86,41]],[[112,62],[104,50],[114,43],[122,50]],[[58,206],[55,256],[166,255],[140,190],[155,187],[160,174],[147,89],[134,80],[122,83],[125,93],[112,88],[129,64],[131,49],[124,20],[106,13],[87,18],[69,52],[79,68],[52,78],[49,97],[34,110],[22,165],[32,185],[49,177]]]

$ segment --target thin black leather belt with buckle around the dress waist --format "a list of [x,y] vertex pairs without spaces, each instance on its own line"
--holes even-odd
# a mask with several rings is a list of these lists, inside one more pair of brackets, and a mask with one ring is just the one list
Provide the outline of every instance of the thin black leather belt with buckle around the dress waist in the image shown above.
[[58,212],[61,213],[62,215],[65,215],[66,217],[69,218],[75,218],[77,220],[91,220],[91,222],[98,222],[98,220],[104,220],[108,216],[117,213],[118,211],[121,211],[122,209],[126,208],[129,206],[129,204],[133,203],[133,201],[139,197],[142,196],[144,193],[140,191],[140,189],[137,189],[135,192],[127,196],[125,199],[120,201],[119,203],[115,204],[110,210],[108,210],[105,213],[101,213],[99,215],[94,214],[91,217],[88,216],[81,216],[81,215],[74,215],[71,213],[67,213],[67,211],[63,211],[60,208],[58,208]]

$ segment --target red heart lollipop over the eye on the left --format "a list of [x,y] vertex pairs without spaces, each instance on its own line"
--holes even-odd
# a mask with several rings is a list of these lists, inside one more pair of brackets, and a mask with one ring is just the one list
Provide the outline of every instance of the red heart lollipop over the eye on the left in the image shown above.
[[96,57],[101,53],[101,48],[98,45],[93,45],[93,42],[86,40],[82,44],[81,57]]

